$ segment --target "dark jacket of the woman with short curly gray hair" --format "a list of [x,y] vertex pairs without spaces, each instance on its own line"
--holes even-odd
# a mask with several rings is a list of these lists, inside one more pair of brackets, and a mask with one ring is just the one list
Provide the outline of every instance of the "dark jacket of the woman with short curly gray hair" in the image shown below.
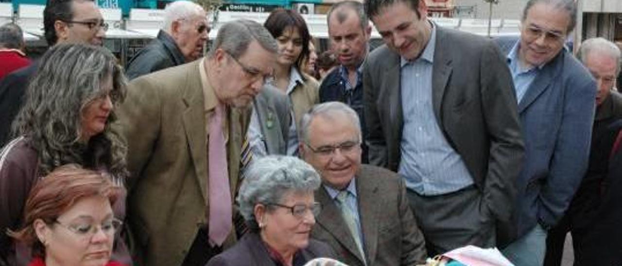
[[[309,245],[294,256],[294,260],[304,262],[315,258],[336,257],[335,252],[324,242],[309,239]],[[276,266],[270,258],[261,237],[257,233],[250,232],[236,243],[231,249],[210,259],[207,266]]]

